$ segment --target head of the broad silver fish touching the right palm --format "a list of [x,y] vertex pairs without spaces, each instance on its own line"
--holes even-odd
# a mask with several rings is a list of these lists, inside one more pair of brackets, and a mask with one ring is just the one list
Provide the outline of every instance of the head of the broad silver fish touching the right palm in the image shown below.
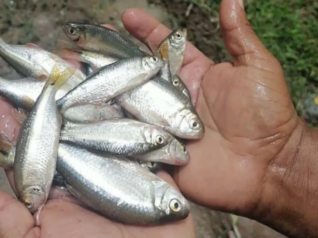
[[204,136],[204,125],[194,110],[184,108],[176,113],[171,125],[172,130],[184,139],[202,139]]

